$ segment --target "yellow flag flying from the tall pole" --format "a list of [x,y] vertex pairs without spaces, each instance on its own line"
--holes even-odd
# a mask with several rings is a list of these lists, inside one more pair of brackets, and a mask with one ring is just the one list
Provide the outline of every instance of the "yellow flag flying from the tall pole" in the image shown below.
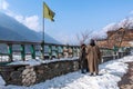
[[45,2],[43,2],[43,18],[50,19],[51,21],[54,21],[54,12],[47,6]]

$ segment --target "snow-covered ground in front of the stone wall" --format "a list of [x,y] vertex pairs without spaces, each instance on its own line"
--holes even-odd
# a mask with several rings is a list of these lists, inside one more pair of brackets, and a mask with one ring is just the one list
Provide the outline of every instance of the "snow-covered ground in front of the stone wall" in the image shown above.
[[100,65],[100,76],[75,71],[30,87],[4,86],[0,77],[0,89],[119,89],[117,82],[127,70],[127,61],[133,61],[133,56]]

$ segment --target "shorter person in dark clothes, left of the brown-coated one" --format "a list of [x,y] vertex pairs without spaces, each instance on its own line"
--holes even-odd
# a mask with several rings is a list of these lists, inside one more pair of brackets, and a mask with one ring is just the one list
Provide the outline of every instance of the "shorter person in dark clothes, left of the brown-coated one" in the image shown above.
[[88,69],[88,60],[86,60],[86,46],[83,43],[81,44],[81,51],[80,51],[80,68],[81,72],[85,73],[89,71]]

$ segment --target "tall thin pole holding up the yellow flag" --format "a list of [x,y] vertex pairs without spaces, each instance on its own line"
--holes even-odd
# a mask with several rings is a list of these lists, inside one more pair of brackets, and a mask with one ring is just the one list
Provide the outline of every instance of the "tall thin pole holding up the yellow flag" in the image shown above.
[[42,59],[44,59],[44,10],[43,10],[43,7],[44,7],[44,2],[42,3],[42,43],[41,43],[41,47],[42,47]]

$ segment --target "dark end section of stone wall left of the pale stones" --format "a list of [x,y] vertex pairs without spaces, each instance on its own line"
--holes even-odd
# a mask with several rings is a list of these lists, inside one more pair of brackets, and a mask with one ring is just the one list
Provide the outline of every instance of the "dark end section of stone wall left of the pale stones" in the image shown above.
[[22,71],[25,66],[0,66],[0,75],[4,79],[7,85],[22,85]]

